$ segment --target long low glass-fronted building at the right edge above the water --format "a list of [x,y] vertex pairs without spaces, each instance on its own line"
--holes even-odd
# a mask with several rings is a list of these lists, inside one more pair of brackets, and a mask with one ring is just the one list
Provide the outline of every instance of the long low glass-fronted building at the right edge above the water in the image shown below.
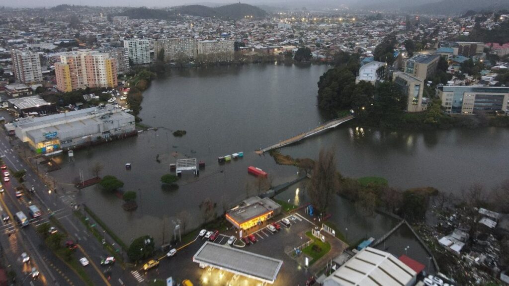
[[493,112],[507,114],[508,87],[438,87],[445,112],[454,114],[476,114]]

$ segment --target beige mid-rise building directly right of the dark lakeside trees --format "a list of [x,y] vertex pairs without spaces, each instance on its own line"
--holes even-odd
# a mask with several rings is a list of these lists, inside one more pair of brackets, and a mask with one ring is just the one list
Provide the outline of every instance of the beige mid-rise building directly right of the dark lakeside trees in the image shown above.
[[407,96],[407,112],[420,112],[426,110],[428,105],[423,104],[424,79],[404,72],[395,72],[392,79],[399,85],[401,91]]

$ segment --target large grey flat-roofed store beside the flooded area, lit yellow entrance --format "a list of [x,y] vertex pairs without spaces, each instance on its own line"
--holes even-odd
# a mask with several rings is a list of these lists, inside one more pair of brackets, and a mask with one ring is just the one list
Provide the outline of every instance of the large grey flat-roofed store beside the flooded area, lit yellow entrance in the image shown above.
[[45,155],[136,134],[134,116],[110,104],[12,124],[19,139]]

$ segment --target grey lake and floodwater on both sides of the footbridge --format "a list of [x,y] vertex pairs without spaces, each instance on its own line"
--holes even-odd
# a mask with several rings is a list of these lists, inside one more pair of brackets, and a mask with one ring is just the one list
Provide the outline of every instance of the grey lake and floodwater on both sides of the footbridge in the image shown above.
[[[295,167],[277,165],[270,156],[253,151],[324,122],[316,107],[317,81],[328,68],[276,64],[172,70],[144,93],[139,116],[157,131],[79,150],[75,162],[60,158],[63,168],[51,174],[65,188],[73,188],[80,171],[90,178],[91,166],[101,162],[101,176],[117,176],[125,182],[124,190],[138,193],[138,209],[125,212],[121,199],[95,187],[81,190],[80,199],[126,242],[151,234],[160,243],[163,229],[167,242],[179,212],[192,215],[188,228],[193,228],[203,221],[199,204],[205,198],[217,203],[219,214],[256,194],[246,188],[254,181],[247,174],[250,165],[267,171],[272,185],[296,178]],[[174,137],[179,129],[187,134]],[[507,129],[383,131],[352,121],[281,152],[316,158],[320,148],[332,147],[346,176],[381,176],[400,188],[458,191],[473,182],[492,186],[505,179],[508,141]],[[217,157],[235,152],[244,152],[244,158],[217,163]],[[188,157],[205,161],[200,176],[184,173],[178,190],[162,190],[159,178],[169,173],[169,164]],[[130,171],[125,163],[132,164]],[[348,228],[350,241],[377,237],[397,223],[382,216],[364,218],[341,198],[336,204],[331,219]],[[351,215],[345,219],[342,213]]]

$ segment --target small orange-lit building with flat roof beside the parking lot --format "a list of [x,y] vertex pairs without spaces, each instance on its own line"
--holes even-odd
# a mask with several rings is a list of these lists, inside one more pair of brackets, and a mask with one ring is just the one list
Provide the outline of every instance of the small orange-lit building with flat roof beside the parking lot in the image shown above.
[[226,219],[235,227],[247,230],[278,215],[281,206],[268,197],[253,196],[226,213]]

